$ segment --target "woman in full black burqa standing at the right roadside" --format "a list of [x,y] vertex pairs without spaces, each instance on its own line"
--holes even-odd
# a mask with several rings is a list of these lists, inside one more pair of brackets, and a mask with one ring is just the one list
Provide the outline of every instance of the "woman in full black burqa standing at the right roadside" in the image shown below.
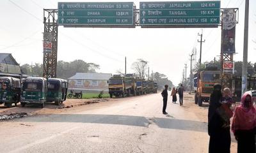
[[221,85],[215,84],[208,112],[209,153],[230,153],[230,122],[221,117],[221,97]]

